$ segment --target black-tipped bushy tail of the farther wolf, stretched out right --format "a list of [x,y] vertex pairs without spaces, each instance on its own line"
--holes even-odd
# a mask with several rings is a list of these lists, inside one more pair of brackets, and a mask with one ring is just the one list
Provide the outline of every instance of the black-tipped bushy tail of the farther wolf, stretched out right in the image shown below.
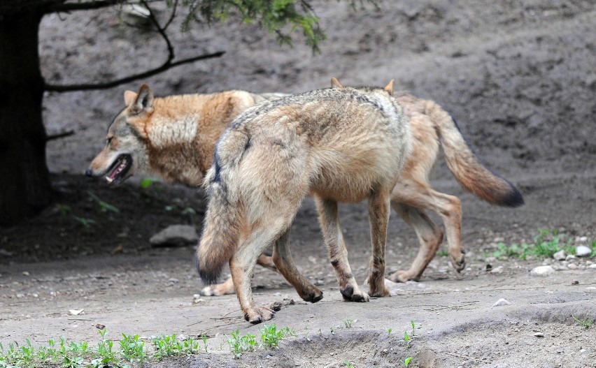
[[455,120],[437,103],[427,102],[426,113],[436,124],[447,167],[460,185],[492,205],[524,204],[520,191],[486,168],[471,151]]

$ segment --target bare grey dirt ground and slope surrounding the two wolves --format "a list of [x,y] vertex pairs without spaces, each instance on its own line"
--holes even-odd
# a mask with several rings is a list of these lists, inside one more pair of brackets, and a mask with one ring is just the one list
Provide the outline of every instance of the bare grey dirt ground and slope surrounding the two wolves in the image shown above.
[[[437,256],[420,282],[393,284],[392,297],[356,304],[341,301],[313,202],[305,200],[292,228],[292,251],[325,297],[301,302],[282,277],[257,267],[256,302],[294,300],[271,322],[295,329],[297,337],[278,350],[234,360],[226,334],[262,326],[243,320],[234,295],[194,299],[202,287],[194,246],[148,242],[175,223],[200,230],[203,193],[159,183],[142,189],[141,178],[112,190],[82,175],[123,108],[122,92],[141,82],[47,94],[48,133],[74,134],[48,145],[57,205],[0,229],[1,343],[29,338],[41,345],[59,336],[92,342],[99,323],[114,338],[121,332],[210,337],[209,354],[146,367],[343,367],[345,361],[400,367],[407,357],[413,357],[410,367],[596,367],[596,326],[581,327],[572,318],[596,318],[596,260],[492,257],[498,242],[531,242],[537,228],[558,230],[574,244],[596,238],[593,1],[378,1],[381,10],[356,12],[343,2],[313,5],[329,36],[321,54],[299,43],[280,48],[264,32],[232,21],[187,34],[173,29],[179,57],[226,54],[143,82],[167,95],[298,92],[327,87],[333,76],[346,85],[395,78],[399,89],[441,103],[486,165],[518,186],[526,205],[481,202],[439,160],[432,185],[462,200],[466,269],[458,274],[447,257]],[[164,57],[155,34],[119,24],[113,11],[48,16],[40,37],[43,74],[53,83],[116,78]],[[104,202],[118,212],[105,205],[101,212]],[[366,206],[342,205],[341,221],[350,263],[364,284]],[[413,230],[392,214],[389,270],[407,267],[417,249]],[[543,264],[557,271],[530,275]],[[494,306],[501,298],[510,304]],[[71,309],[84,311],[74,316]],[[408,347],[402,339],[411,321],[416,335]]]

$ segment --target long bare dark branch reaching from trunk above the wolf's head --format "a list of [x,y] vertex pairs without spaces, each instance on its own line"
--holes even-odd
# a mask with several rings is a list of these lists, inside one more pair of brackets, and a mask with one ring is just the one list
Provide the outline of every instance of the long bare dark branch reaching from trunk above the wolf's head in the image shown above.
[[194,61],[205,60],[205,59],[213,59],[215,57],[221,57],[225,54],[225,51],[218,51],[214,52],[213,54],[204,54],[198,57],[190,57],[188,59],[182,59],[178,61],[172,62],[171,60],[167,60],[161,66],[157,68],[150,69],[148,71],[144,71],[143,73],[129,75],[125,78],[120,78],[117,80],[112,80],[110,82],[105,83],[97,83],[97,84],[66,84],[66,85],[58,85],[58,84],[45,84],[45,91],[53,91],[53,92],[72,92],[72,91],[90,91],[94,89],[108,89],[112,87],[119,86],[120,84],[132,82],[134,80],[139,80],[142,78],[148,78],[152,75],[156,75],[162,73],[162,71],[167,71],[170,68],[174,68],[176,66],[180,66],[183,64],[190,64]]

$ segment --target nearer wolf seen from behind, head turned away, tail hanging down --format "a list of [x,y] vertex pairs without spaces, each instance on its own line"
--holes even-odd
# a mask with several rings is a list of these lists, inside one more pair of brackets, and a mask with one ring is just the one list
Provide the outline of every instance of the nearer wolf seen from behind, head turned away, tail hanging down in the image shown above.
[[[390,193],[411,151],[402,107],[384,89],[320,89],[260,103],[234,119],[217,145],[204,179],[208,191],[197,267],[206,284],[229,262],[247,321],[269,320],[257,307],[250,279],[257,258],[274,246],[274,263],[302,299],[322,292],[300,274],[289,249],[290,226],[302,200],[315,198],[329,260],[344,300],[367,302],[385,288],[385,240]],[[369,200],[372,257],[369,295],[348,263],[337,203]]]

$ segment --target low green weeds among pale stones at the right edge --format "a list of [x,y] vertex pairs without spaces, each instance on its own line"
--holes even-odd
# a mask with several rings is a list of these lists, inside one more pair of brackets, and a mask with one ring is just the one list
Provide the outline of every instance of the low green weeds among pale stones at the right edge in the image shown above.
[[[550,258],[560,250],[568,254],[575,253],[573,240],[566,234],[560,234],[558,230],[538,228],[538,235],[535,235],[532,243],[511,244],[503,242],[497,244],[497,250],[492,252],[492,256],[497,259],[505,260],[507,258],[527,259]],[[596,240],[591,242],[592,254],[596,256]]]

